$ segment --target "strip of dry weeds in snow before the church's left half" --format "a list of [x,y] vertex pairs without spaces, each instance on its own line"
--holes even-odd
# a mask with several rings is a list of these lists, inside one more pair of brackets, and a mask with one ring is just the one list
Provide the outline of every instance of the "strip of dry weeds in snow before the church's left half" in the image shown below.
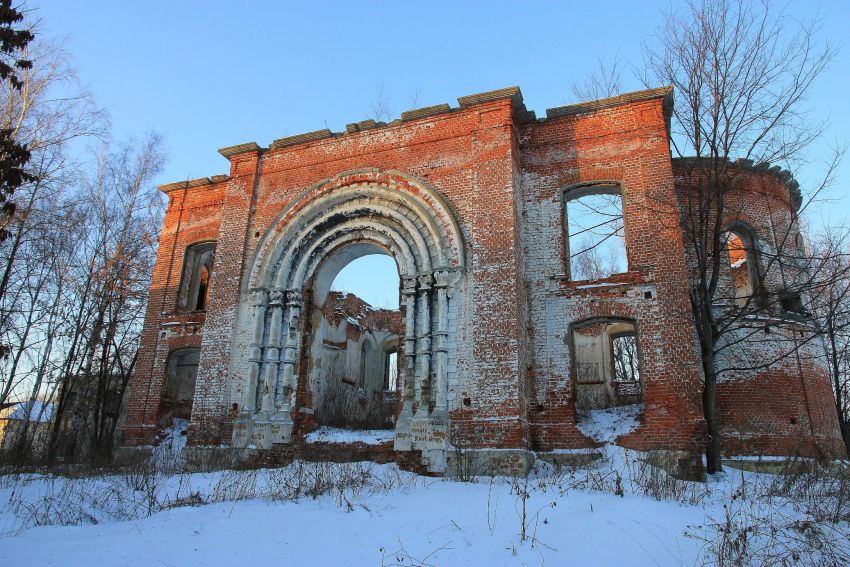
[[180,506],[250,499],[297,501],[330,496],[351,510],[356,498],[404,491],[416,482],[415,475],[389,466],[303,461],[277,469],[192,475],[162,472],[151,459],[120,474],[15,476],[6,503],[13,521],[0,525],[0,536],[35,526],[134,520]]

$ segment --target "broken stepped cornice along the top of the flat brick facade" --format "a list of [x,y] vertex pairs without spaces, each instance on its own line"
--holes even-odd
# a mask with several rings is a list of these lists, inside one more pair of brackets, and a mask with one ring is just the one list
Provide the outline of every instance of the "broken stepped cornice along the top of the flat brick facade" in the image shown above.
[[[416,108],[413,110],[404,111],[401,113],[401,118],[397,118],[391,121],[390,123],[376,122],[371,119],[362,120],[360,122],[352,122],[350,124],[347,124],[344,132],[332,132],[331,130],[324,128],[322,130],[314,130],[312,132],[304,132],[302,134],[296,134],[294,136],[278,138],[277,140],[272,141],[268,148],[263,148],[256,142],[246,142],[243,144],[236,144],[234,146],[227,146],[225,148],[221,148],[218,150],[218,153],[220,153],[227,159],[230,159],[234,156],[245,153],[277,150],[280,148],[297,146],[300,144],[306,144],[309,142],[315,142],[328,138],[338,138],[340,136],[346,136],[357,132],[365,132],[367,130],[374,130],[376,128],[397,126],[406,122],[412,122],[423,118],[430,118],[441,114],[450,114],[453,112],[458,112],[471,108],[479,104],[485,104],[503,99],[510,99],[517,122],[524,124],[526,122],[545,122],[547,120],[562,118],[565,116],[587,114],[590,112],[605,110],[616,106],[622,106],[625,104],[632,104],[635,102],[641,102],[644,100],[652,100],[657,98],[664,99],[664,117],[666,123],[668,124],[667,129],[669,131],[670,110],[672,109],[673,104],[673,87],[658,87],[642,91],[624,93],[609,98],[584,101],[576,104],[569,104],[566,106],[556,106],[554,108],[546,109],[545,118],[537,118],[537,115],[533,110],[530,111],[526,109],[525,103],[522,99],[522,92],[520,91],[520,88],[517,86],[513,86],[506,87],[504,89],[497,89],[494,91],[486,91],[482,93],[458,97],[457,108],[452,108],[446,103],[436,104],[433,106],[426,106],[423,108]],[[166,183],[164,185],[160,185],[159,190],[163,191],[164,193],[168,193],[170,191],[175,191],[178,189],[188,189],[191,187],[199,187],[202,185],[211,185],[213,183],[218,183],[227,179],[227,175],[199,177],[197,179],[177,181],[175,183]]]

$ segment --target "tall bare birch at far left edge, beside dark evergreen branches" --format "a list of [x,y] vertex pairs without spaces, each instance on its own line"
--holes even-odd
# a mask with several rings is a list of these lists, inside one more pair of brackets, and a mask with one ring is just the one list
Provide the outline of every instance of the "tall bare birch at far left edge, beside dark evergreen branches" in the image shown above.
[[[70,157],[70,146],[103,134],[106,124],[61,45],[34,43],[24,55],[32,65],[21,74],[20,88],[8,81],[0,85],[0,128],[12,131],[31,155],[27,182],[12,201],[15,212],[3,218],[10,236],[0,247],[0,350],[6,362],[0,364],[0,403],[41,366],[24,356],[36,346],[32,341],[53,337],[38,325],[58,324],[44,302],[47,295],[61,296],[55,286],[64,285],[67,273],[56,271],[63,266],[55,262],[67,261],[68,246],[77,241],[79,205],[71,195],[81,167]],[[64,299],[56,300],[64,305]]]

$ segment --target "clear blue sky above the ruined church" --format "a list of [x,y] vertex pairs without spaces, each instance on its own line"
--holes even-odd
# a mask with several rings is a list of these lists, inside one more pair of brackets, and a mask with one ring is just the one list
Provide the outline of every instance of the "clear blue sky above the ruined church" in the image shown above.
[[[674,2],[673,5],[676,3]],[[157,130],[169,162],[157,181],[227,173],[220,147],[368,118],[379,85],[394,117],[413,107],[519,85],[529,109],[572,102],[569,85],[597,57],[641,68],[668,0],[642,2],[233,2],[29,0],[45,35],[64,37],[80,79],[112,117],[117,138]],[[850,132],[847,0],[778,2],[789,15],[823,16],[821,35],[842,50],[810,99],[828,119],[827,143]],[[843,44],[843,45],[842,45]],[[626,90],[642,88],[629,67]],[[838,198],[850,185],[850,159]],[[850,217],[845,199],[815,223]]]

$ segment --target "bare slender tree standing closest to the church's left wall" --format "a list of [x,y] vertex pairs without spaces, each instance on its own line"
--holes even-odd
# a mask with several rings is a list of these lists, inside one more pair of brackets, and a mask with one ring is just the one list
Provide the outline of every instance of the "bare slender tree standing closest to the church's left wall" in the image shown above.
[[[83,285],[59,379],[54,453],[111,454],[155,261],[162,206],[150,183],[163,160],[156,134],[116,151],[105,147],[85,184],[89,215],[77,259]],[[63,438],[63,425],[71,438]]]

